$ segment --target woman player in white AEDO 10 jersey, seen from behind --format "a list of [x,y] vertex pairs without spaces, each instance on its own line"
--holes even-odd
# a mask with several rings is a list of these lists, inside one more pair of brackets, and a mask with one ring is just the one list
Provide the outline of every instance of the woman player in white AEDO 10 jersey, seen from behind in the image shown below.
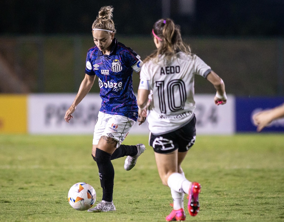
[[216,105],[225,104],[227,97],[223,80],[191,54],[181,39],[179,26],[171,19],[158,20],[152,33],[157,49],[145,59],[140,72],[138,114],[147,114],[149,145],[154,149],[162,183],[170,187],[174,200],[166,221],[183,221],[184,194],[189,195],[189,214],[196,216],[201,190],[201,185],[188,181],[181,169],[181,162],[195,143],[194,76],[203,76],[214,85]]

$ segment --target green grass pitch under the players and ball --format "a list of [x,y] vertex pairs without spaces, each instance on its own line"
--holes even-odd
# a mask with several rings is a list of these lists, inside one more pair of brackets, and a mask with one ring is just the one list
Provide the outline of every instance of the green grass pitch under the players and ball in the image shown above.
[[[0,221],[165,221],[172,202],[162,185],[153,149],[131,171],[114,160],[115,212],[76,211],[67,193],[91,184],[101,200],[92,136],[0,135]],[[124,144],[148,144],[129,135]],[[200,212],[186,221],[284,221],[284,136],[197,136],[183,162],[202,185]],[[185,200],[185,203],[186,200]]]

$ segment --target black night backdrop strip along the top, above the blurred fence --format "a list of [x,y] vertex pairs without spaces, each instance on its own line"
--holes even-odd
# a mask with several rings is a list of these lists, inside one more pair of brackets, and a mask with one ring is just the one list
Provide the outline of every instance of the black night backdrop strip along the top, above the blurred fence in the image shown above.
[[104,5],[114,7],[119,34],[145,35],[167,15],[185,35],[284,35],[283,0],[7,0],[0,3],[0,33],[88,33]]

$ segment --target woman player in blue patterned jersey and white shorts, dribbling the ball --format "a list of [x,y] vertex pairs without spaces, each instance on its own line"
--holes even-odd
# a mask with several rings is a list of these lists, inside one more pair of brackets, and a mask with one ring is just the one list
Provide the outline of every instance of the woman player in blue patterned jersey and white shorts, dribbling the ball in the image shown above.
[[[145,150],[144,144],[121,145],[138,118],[132,72],[140,72],[143,62],[131,48],[114,38],[116,30],[112,11],[110,6],[102,7],[92,25],[95,46],[87,53],[85,78],[65,114],[65,120],[69,122],[73,118],[72,113],[90,91],[97,76],[103,101],[95,125],[92,156],[99,168],[103,197],[97,206],[88,210],[89,212],[116,210],[112,201],[114,168],[111,160],[127,156],[124,169],[130,170]],[[138,122],[139,125],[145,122],[145,117],[141,117]]]

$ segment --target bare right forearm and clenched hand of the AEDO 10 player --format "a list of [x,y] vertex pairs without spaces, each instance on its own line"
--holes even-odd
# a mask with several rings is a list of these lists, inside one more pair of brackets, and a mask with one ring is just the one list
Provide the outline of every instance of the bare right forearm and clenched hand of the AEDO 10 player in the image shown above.
[[212,83],[216,89],[216,96],[214,97],[214,102],[216,105],[224,105],[227,102],[227,96],[225,92],[224,81],[213,71],[211,71],[206,79]]

